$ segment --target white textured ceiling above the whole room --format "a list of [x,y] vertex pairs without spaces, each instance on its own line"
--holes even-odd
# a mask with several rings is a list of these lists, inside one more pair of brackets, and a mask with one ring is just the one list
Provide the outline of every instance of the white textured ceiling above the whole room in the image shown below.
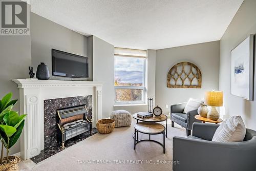
[[163,49],[219,40],[243,0],[30,0],[31,11],[115,47]]

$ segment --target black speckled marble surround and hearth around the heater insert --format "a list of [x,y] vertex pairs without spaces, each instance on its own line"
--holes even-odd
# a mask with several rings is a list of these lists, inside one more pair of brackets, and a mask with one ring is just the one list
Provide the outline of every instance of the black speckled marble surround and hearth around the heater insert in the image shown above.
[[[57,110],[71,108],[79,105],[87,106],[88,115],[91,118],[92,117],[92,95],[44,100],[45,149],[42,150],[39,155],[31,158],[33,162],[38,163],[63,150],[61,148],[61,142],[57,142],[57,125],[56,125]],[[96,133],[97,133],[97,130],[93,128],[91,133],[89,131],[67,140],[65,142],[65,147],[67,148],[71,145],[74,145],[79,141],[84,140]]]

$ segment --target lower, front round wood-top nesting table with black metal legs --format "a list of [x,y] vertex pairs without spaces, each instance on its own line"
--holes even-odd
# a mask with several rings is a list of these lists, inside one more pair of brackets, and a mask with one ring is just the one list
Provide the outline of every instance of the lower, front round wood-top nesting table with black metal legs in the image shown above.
[[[148,134],[148,139],[139,140],[138,132],[142,134]],[[137,136],[136,136],[137,133]],[[163,144],[151,139],[151,135],[163,134]],[[165,127],[164,125],[156,122],[139,122],[134,125],[134,149],[136,148],[136,144],[141,141],[153,141],[160,144],[163,147],[163,153],[165,153]],[[137,137],[137,139],[136,139]]]

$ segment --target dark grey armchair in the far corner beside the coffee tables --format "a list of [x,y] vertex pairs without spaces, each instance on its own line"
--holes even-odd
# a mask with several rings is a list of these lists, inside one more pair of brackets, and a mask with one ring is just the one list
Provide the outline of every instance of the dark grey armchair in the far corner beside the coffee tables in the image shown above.
[[172,120],[172,127],[174,127],[174,122],[185,127],[187,131],[187,136],[191,134],[192,125],[194,122],[201,122],[195,119],[198,115],[197,110],[190,111],[187,114],[183,113],[186,103],[179,103],[170,106],[170,120]]

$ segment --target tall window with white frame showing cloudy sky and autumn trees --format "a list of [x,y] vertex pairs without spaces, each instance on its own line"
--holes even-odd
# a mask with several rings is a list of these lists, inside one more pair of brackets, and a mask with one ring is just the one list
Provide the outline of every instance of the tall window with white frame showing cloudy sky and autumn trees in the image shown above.
[[115,48],[115,104],[145,103],[146,51]]

